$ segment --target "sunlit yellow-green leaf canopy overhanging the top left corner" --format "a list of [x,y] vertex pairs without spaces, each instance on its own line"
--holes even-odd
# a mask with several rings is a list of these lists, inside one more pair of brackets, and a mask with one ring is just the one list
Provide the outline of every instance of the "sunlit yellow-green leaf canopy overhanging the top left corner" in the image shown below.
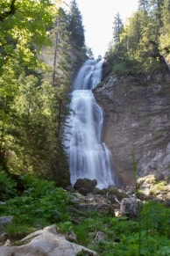
[[[0,21],[0,63],[3,65],[18,59],[22,65],[37,68],[40,64],[37,55],[42,45],[49,43],[47,28],[53,24],[57,9],[50,1],[7,1],[2,0],[1,10],[13,8],[15,11],[3,11]],[[13,6],[13,7],[11,7]],[[39,13],[39,14],[38,14]]]

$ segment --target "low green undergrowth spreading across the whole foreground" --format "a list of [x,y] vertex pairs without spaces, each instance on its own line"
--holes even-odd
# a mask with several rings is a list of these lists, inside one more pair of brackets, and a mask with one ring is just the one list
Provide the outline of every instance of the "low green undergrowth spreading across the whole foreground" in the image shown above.
[[[134,164],[135,165],[135,164]],[[13,242],[34,230],[56,224],[61,233],[74,232],[77,243],[99,255],[169,255],[170,208],[158,201],[145,201],[139,218],[115,217],[113,212],[72,211],[68,193],[52,181],[21,175],[17,182],[0,172],[0,184],[15,190],[13,198],[4,190],[1,216],[13,216],[5,230]],[[159,183],[159,187],[165,183]],[[16,187],[20,190],[16,190]],[[156,186],[156,185],[155,185]],[[76,221],[75,221],[76,220]],[[140,235],[139,235],[140,234]],[[18,245],[18,244],[16,244]]]

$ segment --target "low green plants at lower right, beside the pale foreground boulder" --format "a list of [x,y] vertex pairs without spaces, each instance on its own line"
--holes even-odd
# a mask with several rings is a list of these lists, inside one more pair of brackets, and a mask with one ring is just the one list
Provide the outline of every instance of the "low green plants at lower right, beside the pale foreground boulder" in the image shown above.
[[[96,212],[89,214],[80,224],[68,223],[68,230],[74,231],[78,243],[95,250],[99,255],[168,255],[169,214],[170,209],[161,203],[148,201],[143,205],[139,252],[138,220]],[[100,234],[99,238],[101,236],[98,241],[97,234]]]

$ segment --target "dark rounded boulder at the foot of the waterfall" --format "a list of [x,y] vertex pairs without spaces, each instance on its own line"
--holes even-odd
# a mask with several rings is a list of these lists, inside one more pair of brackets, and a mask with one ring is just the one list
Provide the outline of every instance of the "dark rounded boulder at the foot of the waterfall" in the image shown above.
[[81,194],[87,195],[94,191],[96,185],[96,179],[77,179],[74,183],[74,189],[78,190]]

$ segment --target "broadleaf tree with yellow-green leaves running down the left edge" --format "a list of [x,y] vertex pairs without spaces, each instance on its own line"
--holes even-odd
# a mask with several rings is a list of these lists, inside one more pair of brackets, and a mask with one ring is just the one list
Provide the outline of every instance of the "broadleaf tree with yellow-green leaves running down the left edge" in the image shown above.
[[24,71],[36,73],[35,69],[45,67],[39,60],[39,51],[49,43],[47,29],[52,26],[57,9],[47,0],[2,0],[0,10],[0,165],[7,169],[18,79]]

